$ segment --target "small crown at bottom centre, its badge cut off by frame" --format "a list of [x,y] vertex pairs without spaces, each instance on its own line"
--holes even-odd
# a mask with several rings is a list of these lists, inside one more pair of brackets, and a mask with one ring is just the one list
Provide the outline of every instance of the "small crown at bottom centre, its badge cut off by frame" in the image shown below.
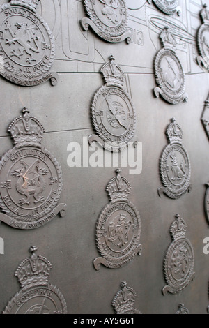
[[134,308],[135,297],[137,296],[133,288],[127,286],[127,283],[123,281],[121,283],[121,289],[118,290],[111,305],[114,308],[116,314],[141,314],[137,308]]

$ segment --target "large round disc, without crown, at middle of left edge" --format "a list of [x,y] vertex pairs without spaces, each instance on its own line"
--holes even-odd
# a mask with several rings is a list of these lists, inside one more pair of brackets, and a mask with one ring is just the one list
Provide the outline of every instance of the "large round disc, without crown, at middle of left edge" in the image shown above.
[[47,149],[11,149],[0,162],[0,205],[9,225],[33,229],[54,218],[61,195],[61,168]]

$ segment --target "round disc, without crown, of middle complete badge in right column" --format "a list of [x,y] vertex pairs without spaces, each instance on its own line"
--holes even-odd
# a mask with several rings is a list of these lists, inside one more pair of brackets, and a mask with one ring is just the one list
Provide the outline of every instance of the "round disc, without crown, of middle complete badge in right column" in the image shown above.
[[182,145],[171,144],[164,149],[160,159],[160,174],[169,197],[176,199],[187,192],[191,165],[187,151]]

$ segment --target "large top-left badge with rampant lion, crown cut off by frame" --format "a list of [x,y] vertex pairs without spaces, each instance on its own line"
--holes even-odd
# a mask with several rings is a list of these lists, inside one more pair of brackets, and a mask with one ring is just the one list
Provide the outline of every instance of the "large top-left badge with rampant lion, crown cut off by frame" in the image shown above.
[[10,82],[33,87],[51,80],[55,46],[52,32],[36,13],[39,0],[11,0],[0,12],[0,74]]

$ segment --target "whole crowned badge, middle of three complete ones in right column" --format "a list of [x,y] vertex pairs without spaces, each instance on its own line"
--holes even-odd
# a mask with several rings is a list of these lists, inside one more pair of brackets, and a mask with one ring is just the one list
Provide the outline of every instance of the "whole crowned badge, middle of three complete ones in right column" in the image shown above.
[[162,194],[165,193],[170,198],[177,199],[187,191],[191,191],[191,165],[187,151],[182,144],[183,131],[176,123],[176,119],[172,119],[166,135],[169,145],[164,149],[160,158],[160,176],[164,186],[158,188],[158,194],[162,197]]

